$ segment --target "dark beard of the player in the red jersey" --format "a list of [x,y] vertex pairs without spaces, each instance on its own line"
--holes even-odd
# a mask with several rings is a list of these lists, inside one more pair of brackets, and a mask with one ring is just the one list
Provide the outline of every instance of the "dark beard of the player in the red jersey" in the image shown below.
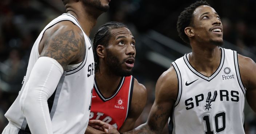
[[125,64],[126,59],[120,62],[117,56],[114,56],[109,50],[107,50],[107,56],[107,65],[113,74],[121,77],[132,75],[132,70],[124,70],[122,68],[122,64]]

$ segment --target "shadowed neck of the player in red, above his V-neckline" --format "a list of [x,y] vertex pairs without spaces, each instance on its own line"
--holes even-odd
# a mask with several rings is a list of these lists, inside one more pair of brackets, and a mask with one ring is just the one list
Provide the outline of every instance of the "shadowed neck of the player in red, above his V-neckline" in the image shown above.
[[120,83],[121,76],[109,73],[106,69],[102,68],[95,73],[97,86],[104,97],[108,98],[116,91],[117,86]]

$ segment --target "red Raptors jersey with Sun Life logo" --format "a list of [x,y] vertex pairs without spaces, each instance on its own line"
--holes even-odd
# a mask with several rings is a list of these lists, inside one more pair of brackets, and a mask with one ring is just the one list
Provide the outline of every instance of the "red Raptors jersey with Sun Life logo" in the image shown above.
[[134,78],[122,77],[113,96],[105,98],[95,79],[92,92],[91,119],[100,119],[113,125],[117,130],[123,125],[132,101]]

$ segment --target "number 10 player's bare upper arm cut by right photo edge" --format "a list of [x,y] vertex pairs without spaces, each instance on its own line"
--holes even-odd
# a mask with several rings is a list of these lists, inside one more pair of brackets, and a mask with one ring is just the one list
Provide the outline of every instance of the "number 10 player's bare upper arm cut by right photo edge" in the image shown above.
[[246,88],[246,99],[253,111],[256,112],[256,64],[248,57],[238,55],[239,70],[243,85]]

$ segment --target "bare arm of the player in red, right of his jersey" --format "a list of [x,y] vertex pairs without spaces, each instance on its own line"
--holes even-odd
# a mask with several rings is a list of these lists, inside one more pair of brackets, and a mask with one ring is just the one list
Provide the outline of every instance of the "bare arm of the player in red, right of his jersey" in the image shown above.
[[131,110],[124,124],[120,128],[120,132],[132,130],[135,126],[135,121],[139,118],[147,102],[147,90],[144,85],[134,80]]

